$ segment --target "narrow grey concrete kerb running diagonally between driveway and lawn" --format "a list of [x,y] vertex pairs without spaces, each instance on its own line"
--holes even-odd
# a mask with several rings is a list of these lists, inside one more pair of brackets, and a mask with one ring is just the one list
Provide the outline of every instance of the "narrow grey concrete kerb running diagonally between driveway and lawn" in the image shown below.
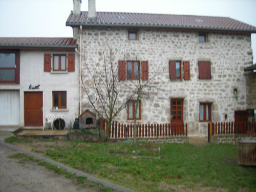
[[21,148],[18,148],[18,147],[16,147],[16,146],[14,146],[14,145],[12,145],[12,144],[9,144],[9,143],[6,143],[6,142],[4,142],[4,141],[0,141],[0,144],[6,146],[6,147],[8,147],[8,148],[10,148],[11,150],[18,151],[18,152],[21,152],[21,153],[25,153],[25,154],[27,154],[27,155],[29,155],[29,156],[32,156],[32,157],[35,157],[35,158],[37,158],[37,159],[43,160],[43,161],[45,161],[45,162],[51,163],[52,165],[56,165],[56,166],[58,166],[58,167],[61,167],[61,168],[63,168],[63,169],[66,169],[67,172],[70,172],[70,173],[72,173],[72,174],[75,174],[76,176],[86,177],[89,181],[93,181],[93,182],[100,183],[100,184],[102,184],[102,185],[104,185],[104,186],[106,186],[106,187],[110,187],[110,188],[116,189],[116,190],[118,190],[118,191],[123,191],[123,192],[135,192],[134,190],[127,189],[127,188],[121,187],[121,186],[119,186],[119,185],[115,185],[115,184],[113,184],[113,183],[110,183],[110,182],[108,182],[108,181],[104,181],[104,180],[102,180],[102,179],[98,179],[98,178],[96,178],[96,177],[93,177],[93,176],[91,176],[91,175],[88,175],[88,174],[86,174],[86,173],[83,173],[83,172],[81,172],[81,171],[79,171],[79,170],[76,170],[76,169],[74,169],[74,168],[68,167],[68,166],[63,165],[63,164],[61,164],[61,163],[58,163],[58,162],[56,162],[56,161],[52,161],[52,160],[47,159],[47,158],[45,158],[45,157],[36,155],[36,154],[34,154],[34,153],[31,153],[31,152],[28,152],[28,151],[25,151],[25,150],[22,150]]

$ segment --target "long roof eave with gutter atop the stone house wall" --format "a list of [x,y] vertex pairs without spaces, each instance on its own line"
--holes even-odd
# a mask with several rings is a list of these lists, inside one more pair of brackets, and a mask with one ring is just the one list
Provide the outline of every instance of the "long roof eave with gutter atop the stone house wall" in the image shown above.
[[138,27],[138,28],[169,28],[169,29],[188,29],[188,30],[208,30],[208,31],[225,31],[225,32],[242,32],[256,33],[256,30],[226,29],[226,28],[205,28],[205,27],[187,27],[187,26],[166,26],[166,25],[127,25],[127,24],[85,24],[85,23],[66,23],[66,26],[78,27]]

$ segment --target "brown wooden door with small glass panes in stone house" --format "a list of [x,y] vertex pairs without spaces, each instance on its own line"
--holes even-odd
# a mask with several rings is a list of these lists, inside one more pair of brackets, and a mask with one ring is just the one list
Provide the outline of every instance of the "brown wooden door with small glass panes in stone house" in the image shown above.
[[183,100],[172,99],[170,100],[170,123],[183,123]]

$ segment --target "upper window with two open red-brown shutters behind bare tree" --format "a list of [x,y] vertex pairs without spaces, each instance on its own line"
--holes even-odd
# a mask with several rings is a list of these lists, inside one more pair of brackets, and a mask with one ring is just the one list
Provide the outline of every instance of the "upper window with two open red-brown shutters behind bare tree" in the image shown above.
[[118,61],[119,80],[139,80],[140,77],[148,80],[148,61]]

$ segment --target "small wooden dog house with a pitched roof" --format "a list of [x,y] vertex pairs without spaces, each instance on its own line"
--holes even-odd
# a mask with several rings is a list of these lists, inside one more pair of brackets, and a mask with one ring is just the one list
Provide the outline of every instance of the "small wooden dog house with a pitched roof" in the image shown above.
[[79,127],[80,128],[93,128],[96,127],[96,115],[89,110],[84,111],[79,116]]

